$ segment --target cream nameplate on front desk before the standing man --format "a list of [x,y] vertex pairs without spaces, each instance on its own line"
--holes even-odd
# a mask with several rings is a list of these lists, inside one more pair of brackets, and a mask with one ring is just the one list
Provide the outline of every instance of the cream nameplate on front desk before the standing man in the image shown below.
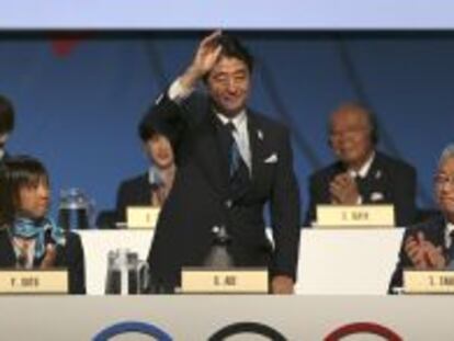
[[268,294],[268,270],[184,268],[181,273],[181,292],[185,294]]

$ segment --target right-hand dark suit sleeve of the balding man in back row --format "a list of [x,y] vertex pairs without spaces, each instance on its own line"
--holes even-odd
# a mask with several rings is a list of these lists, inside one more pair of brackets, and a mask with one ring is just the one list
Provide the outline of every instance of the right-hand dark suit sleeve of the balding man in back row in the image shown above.
[[395,200],[396,205],[396,225],[406,227],[416,221],[416,187],[417,174],[412,167],[406,167],[396,178]]

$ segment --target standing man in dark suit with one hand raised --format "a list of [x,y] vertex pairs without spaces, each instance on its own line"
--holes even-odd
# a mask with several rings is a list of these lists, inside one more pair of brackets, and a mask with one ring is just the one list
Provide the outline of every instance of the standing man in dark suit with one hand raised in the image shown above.
[[[182,266],[200,266],[224,227],[235,265],[269,266],[273,293],[292,293],[299,242],[299,193],[288,130],[247,107],[252,56],[216,32],[158,99],[150,115],[173,143],[174,186],[149,253],[160,285],[180,284]],[[193,93],[203,80],[208,96]],[[274,249],[265,237],[270,203]]]

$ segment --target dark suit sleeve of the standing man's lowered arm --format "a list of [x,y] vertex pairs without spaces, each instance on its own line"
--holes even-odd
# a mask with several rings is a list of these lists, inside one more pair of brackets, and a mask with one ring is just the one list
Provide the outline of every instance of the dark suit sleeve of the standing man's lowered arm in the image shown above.
[[274,237],[272,275],[288,275],[296,280],[299,252],[299,189],[293,171],[288,132],[283,130],[279,162],[270,203]]

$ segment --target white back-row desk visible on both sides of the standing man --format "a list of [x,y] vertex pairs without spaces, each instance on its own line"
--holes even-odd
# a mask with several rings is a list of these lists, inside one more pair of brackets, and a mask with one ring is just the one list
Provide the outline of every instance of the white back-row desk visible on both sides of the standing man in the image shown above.
[[[87,293],[103,295],[109,250],[129,248],[145,260],[154,230],[84,230]],[[297,294],[386,295],[404,229],[303,229]],[[268,234],[270,238],[271,234]]]

